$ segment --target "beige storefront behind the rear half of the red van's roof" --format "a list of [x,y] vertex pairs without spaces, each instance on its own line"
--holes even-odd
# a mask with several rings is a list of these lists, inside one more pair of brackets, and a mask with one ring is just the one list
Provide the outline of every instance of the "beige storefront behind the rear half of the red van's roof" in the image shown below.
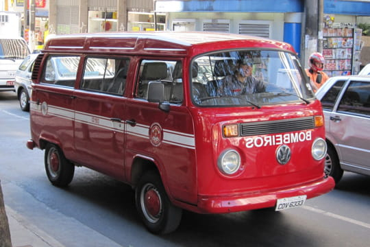
[[164,30],[166,22],[153,0],[56,0],[50,19],[56,34]]

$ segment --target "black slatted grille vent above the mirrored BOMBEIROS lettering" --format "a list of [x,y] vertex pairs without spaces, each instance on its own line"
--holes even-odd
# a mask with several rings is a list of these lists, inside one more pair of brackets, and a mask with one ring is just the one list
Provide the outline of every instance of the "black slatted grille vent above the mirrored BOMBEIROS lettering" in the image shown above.
[[313,117],[301,117],[297,119],[284,119],[277,121],[262,121],[248,124],[240,124],[242,137],[308,130],[314,128]]

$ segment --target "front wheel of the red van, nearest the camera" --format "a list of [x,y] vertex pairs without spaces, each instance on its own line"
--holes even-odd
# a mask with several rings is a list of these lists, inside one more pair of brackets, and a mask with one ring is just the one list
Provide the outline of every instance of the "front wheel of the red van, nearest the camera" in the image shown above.
[[179,226],[182,209],[170,202],[157,172],[149,171],[140,178],[135,199],[140,218],[151,233],[171,233]]

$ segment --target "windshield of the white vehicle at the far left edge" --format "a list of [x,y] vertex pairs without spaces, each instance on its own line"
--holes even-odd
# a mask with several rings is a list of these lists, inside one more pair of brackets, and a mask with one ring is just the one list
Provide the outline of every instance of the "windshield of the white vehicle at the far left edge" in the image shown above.
[[23,60],[29,55],[25,40],[21,38],[0,38],[0,59]]

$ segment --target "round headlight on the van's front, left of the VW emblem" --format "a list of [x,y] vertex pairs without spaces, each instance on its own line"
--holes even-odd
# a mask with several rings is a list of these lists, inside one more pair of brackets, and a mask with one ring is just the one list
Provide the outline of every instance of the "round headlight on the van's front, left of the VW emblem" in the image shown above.
[[238,172],[240,155],[235,150],[225,150],[220,154],[217,165],[223,174],[232,175]]

